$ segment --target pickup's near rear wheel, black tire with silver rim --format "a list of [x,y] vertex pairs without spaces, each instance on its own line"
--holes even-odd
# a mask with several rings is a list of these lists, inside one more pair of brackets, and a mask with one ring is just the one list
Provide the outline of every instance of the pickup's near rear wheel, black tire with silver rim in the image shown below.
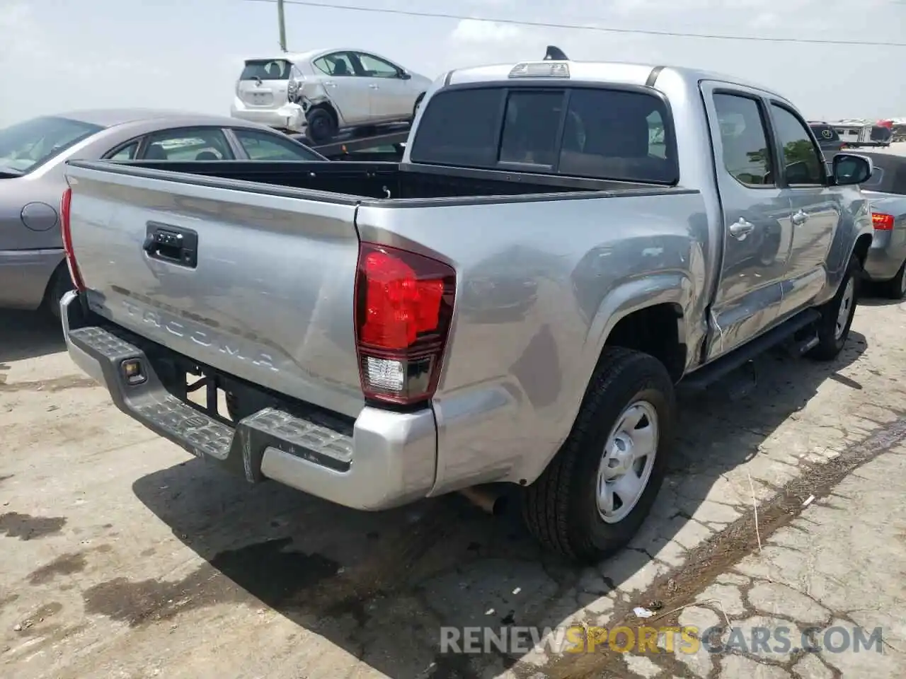
[[[611,461],[641,445],[641,437],[631,443],[628,436],[629,431],[639,433],[639,426],[621,427],[627,415],[639,415],[639,408],[639,424],[647,419],[655,428],[651,460],[637,460],[634,472],[614,472]],[[522,510],[528,530],[547,550],[578,561],[596,562],[620,550],[639,530],[660,491],[675,417],[673,380],[658,359],[631,349],[604,349],[572,432],[545,472],[525,488]],[[607,449],[611,455],[604,453]],[[602,512],[599,488],[611,488],[611,498],[623,494],[614,493],[602,473],[618,478],[634,473],[641,478],[641,492],[626,493],[626,502],[619,507],[612,502],[608,508],[615,511]]]

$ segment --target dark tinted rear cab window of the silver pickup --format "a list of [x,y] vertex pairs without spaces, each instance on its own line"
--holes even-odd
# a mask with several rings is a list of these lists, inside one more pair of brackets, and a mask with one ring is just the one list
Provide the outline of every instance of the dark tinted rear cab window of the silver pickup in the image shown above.
[[666,104],[653,94],[621,89],[440,91],[422,114],[410,158],[667,185],[679,179]]

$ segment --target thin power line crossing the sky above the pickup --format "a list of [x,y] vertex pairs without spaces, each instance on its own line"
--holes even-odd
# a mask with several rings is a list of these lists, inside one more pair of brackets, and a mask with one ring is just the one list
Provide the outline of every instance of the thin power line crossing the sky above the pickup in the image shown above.
[[[277,0],[245,0],[250,3],[267,3],[273,5]],[[897,3],[891,0],[892,4]],[[679,33],[677,31],[654,31],[642,28],[612,28],[604,26],[586,26],[581,24],[549,24],[540,21],[523,21],[517,19],[495,19],[485,16],[468,16],[467,14],[451,14],[447,12],[418,12],[415,10],[390,9],[387,7],[364,7],[361,5],[338,5],[335,3],[319,3],[313,0],[284,0],[286,5],[303,5],[305,7],[320,7],[322,9],[338,9],[346,12],[367,12],[370,14],[396,14],[399,16],[419,16],[430,19],[456,19],[487,21],[494,24],[513,26],[527,26],[532,28],[565,28],[574,31],[597,31],[600,33],[631,33],[636,35],[664,35],[675,38],[699,38],[703,40],[746,40],[756,43],[799,43],[799,44],[846,44],[863,45],[872,47],[906,47],[906,43],[884,43],[873,40],[819,40],[808,38],[773,38],[756,35],[726,35],[720,33]],[[600,20],[599,20],[600,21]]]

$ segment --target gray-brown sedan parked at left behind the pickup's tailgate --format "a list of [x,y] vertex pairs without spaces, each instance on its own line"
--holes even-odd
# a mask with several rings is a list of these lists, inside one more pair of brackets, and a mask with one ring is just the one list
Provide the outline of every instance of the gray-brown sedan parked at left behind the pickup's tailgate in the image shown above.
[[0,308],[60,311],[60,196],[70,158],[323,160],[263,125],[172,111],[89,110],[0,129]]

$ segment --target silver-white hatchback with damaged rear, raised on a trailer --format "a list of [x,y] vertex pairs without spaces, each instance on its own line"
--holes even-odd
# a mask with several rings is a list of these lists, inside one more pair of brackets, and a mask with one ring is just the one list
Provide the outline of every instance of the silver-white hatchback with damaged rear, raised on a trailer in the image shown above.
[[323,143],[342,129],[411,120],[430,85],[362,50],[281,54],[246,60],[230,113]]

